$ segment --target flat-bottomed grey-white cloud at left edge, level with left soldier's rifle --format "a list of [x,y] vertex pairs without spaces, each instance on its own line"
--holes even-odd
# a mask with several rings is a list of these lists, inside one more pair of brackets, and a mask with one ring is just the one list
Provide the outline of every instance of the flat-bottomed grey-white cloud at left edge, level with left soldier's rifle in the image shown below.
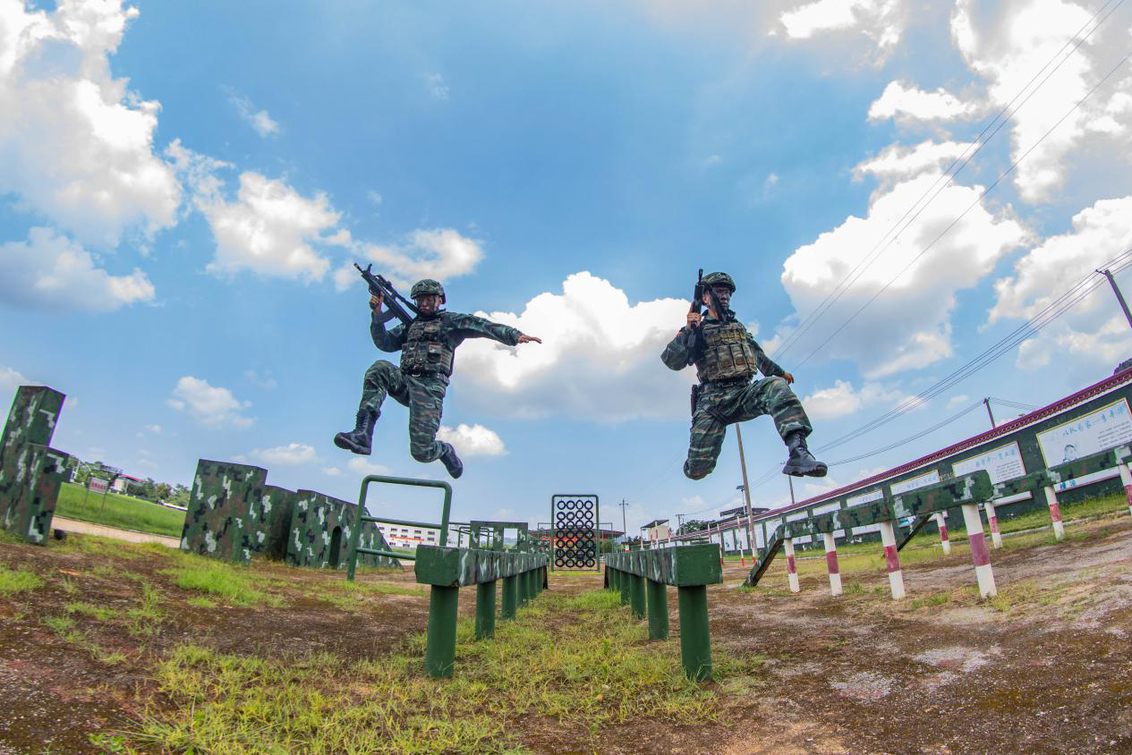
[[153,301],[154,288],[138,268],[111,275],[82,246],[46,228],[27,241],[0,244],[0,298],[24,307],[112,311]]

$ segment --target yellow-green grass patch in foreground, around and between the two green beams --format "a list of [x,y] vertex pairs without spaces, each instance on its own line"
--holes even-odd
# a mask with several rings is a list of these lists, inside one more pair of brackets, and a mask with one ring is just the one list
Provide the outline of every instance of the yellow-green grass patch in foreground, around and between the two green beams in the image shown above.
[[[650,643],[617,595],[546,593],[474,642],[457,628],[452,679],[423,674],[424,635],[392,657],[222,654],[188,645],[155,678],[172,705],[122,744],[170,752],[524,753],[534,726],[590,752],[617,724],[723,720],[719,692],[685,679],[679,643]],[[762,659],[717,649],[719,689],[746,689]]]

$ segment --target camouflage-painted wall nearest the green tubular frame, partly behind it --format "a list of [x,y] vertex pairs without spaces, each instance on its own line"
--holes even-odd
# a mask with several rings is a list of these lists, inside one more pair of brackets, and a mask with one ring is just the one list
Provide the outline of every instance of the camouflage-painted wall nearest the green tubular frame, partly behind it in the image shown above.
[[[350,533],[354,526],[357,505],[314,490],[295,494],[286,541],[286,560],[292,566],[346,568],[350,557]],[[363,522],[358,543],[362,548],[389,550],[388,543],[372,522]],[[400,566],[384,556],[361,554],[365,566]]]

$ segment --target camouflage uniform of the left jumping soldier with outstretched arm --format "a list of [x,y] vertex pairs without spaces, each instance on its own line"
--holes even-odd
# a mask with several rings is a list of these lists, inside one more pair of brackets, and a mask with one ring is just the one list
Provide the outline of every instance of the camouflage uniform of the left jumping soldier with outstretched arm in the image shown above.
[[[409,336],[409,326],[402,324],[392,331],[386,331],[385,324],[379,321],[378,317],[378,312],[375,311],[369,327],[374,344],[381,351],[402,351]],[[413,323],[434,319],[439,320],[439,327],[432,326],[435,337],[447,349],[449,360],[452,352],[463,343],[464,338],[491,338],[514,346],[522,335],[507,325],[474,315],[449,311],[440,311],[432,317],[417,317]],[[409,407],[409,451],[413,458],[419,462],[432,462],[445,453],[445,444],[436,439],[436,432],[440,428],[451,363],[447,369],[427,371],[420,369],[418,364],[406,364],[409,355],[408,352],[402,353],[401,367],[381,359],[366,370],[359,413],[369,411],[376,419],[380,414],[385,396],[393,396],[398,404]],[[434,357],[434,353],[429,353],[428,357]]]

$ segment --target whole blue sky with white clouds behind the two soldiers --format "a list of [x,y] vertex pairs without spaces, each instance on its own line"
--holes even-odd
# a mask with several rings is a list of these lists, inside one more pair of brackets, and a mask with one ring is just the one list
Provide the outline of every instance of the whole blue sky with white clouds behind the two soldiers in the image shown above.
[[[0,401],[22,383],[67,393],[53,445],[139,477],[188,482],[197,458],[246,460],[353,499],[367,467],[331,438],[379,357],[349,267],[374,261],[404,283],[440,277],[451,309],[546,341],[457,353],[444,417],[468,469],[457,518],[538,522],[551,494],[577,491],[618,525],[628,501],[631,530],[715,512],[736,497],[734,434],[711,477],[686,480],[692,378],[659,360],[697,267],[736,277],[734,306],[797,376],[816,447],[1132,247],[1130,67],[1043,136],[1132,46],[1132,11],[1090,20],[1098,9],[0,0]],[[953,185],[791,343],[1020,92]],[[986,395],[1053,401],[1132,355],[1130,333],[1098,290],[825,461]],[[441,477],[409,456],[405,424],[391,404],[371,469]],[[971,412],[798,496],[986,424]],[[784,457],[767,419],[745,443],[753,479]],[[786,481],[754,498],[788,500]]]

